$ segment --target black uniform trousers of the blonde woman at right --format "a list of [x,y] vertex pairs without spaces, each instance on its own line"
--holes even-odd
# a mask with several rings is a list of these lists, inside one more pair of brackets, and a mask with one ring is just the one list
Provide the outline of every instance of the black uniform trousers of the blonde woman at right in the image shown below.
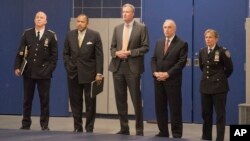
[[201,94],[202,106],[202,139],[212,140],[213,108],[216,113],[216,141],[223,141],[226,124],[226,99],[227,93],[221,94]]

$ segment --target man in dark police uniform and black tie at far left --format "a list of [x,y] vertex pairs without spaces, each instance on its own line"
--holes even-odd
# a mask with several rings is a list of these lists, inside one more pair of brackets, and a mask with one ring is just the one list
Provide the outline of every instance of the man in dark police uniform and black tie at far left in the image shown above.
[[45,29],[47,16],[44,12],[37,12],[34,22],[35,28],[27,29],[22,36],[14,66],[16,76],[20,76],[23,57],[26,57],[21,129],[30,129],[32,100],[37,85],[41,103],[40,125],[42,130],[49,130],[49,91],[58,59],[57,39],[53,31]]

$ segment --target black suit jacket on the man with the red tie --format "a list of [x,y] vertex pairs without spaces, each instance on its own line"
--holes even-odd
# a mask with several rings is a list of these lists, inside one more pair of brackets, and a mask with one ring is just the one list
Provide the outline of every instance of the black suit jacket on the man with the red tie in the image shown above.
[[186,65],[188,44],[175,36],[164,55],[165,37],[156,42],[151,61],[152,72],[168,72],[167,85],[181,85],[182,69]]

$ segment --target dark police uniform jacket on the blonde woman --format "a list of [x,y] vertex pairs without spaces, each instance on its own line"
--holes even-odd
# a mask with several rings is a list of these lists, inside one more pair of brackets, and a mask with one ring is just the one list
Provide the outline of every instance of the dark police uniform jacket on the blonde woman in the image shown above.
[[230,53],[226,48],[215,46],[208,54],[208,48],[199,52],[199,65],[202,71],[200,92],[202,94],[219,94],[229,91],[227,78],[233,72]]

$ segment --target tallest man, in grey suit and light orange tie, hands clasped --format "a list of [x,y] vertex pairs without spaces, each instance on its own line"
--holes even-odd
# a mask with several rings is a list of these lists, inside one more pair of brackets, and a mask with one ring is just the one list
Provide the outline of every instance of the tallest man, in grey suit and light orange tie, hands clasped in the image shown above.
[[131,4],[122,7],[123,24],[115,27],[111,43],[115,99],[120,116],[121,130],[117,134],[129,135],[127,87],[135,111],[136,135],[143,135],[143,113],[140,90],[141,73],[144,71],[144,54],[149,49],[145,25],[134,21],[135,8]]

